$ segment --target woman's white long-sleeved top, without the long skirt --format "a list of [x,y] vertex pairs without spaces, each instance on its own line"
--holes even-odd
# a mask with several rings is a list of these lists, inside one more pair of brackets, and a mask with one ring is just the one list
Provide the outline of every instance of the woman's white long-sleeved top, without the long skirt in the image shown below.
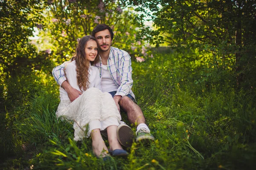
[[[72,62],[70,62],[66,65],[65,72],[66,72],[66,77],[67,77],[69,84],[76,90],[81,91],[77,84],[76,60],[73,60]],[[99,69],[98,68],[90,65],[88,78],[89,78],[89,82],[90,82],[89,88],[94,87],[94,88],[98,88],[99,90],[101,90],[101,85],[100,85],[101,79],[99,77]],[[84,90],[82,90],[81,92],[83,93]],[[61,86],[60,86],[60,99],[61,100],[69,99],[67,92]]]

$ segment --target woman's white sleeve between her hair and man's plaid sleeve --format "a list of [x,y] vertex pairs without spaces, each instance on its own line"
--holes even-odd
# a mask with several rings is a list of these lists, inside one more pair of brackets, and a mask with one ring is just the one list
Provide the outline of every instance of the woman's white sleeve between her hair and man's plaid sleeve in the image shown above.
[[78,84],[77,84],[77,77],[76,77],[76,64],[70,62],[66,65],[65,73],[67,77],[67,81],[69,84],[78,91],[81,91]]

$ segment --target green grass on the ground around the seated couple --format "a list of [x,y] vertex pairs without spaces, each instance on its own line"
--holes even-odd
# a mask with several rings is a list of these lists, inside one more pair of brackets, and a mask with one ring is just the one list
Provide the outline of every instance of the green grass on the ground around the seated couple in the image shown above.
[[[74,142],[72,125],[56,119],[58,87],[52,77],[38,73],[29,97],[6,116],[18,156],[6,159],[2,167],[233,170],[256,166],[254,89],[238,90],[228,79],[195,84],[201,77],[200,65],[177,53],[155,54],[132,66],[133,91],[155,142],[134,143],[127,159],[96,159],[91,140]],[[122,118],[127,122],[125,113]]]

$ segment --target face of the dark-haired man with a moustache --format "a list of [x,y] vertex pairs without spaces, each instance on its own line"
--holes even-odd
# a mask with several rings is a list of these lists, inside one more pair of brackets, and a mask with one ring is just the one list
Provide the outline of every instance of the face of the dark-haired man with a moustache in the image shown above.
[[112,40],[108,29],[97,32],[95,38],[99,43],[101,51],[108,51],[110,49]]

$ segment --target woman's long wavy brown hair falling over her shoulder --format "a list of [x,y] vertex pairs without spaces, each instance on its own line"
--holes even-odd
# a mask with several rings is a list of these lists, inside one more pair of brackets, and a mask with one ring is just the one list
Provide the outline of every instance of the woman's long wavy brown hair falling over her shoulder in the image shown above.
[[89,88],[89,68],[90,64],[94,65],[99,62],[99,53],[95,57],[94,61],[89,61],[86,58],[85,46],[88,41],[93,40],[97,43],[98,49],[99,44],[95,37],[87,35],[82,37],[77,45],[76,54],[72,57],[71,61],[76,60],[76,74],[77,74],[77,84],[80,90],[86,91]]

